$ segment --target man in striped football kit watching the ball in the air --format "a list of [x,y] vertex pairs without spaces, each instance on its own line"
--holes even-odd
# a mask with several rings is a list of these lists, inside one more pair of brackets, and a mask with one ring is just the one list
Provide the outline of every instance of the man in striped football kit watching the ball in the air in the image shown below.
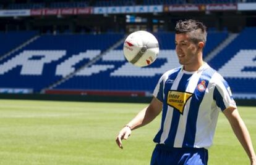
[[160,130],[153,139],[156,147],[151,164],[207,164],[207,149],[212,145],[218,113],[222,111],[251,164],[256,165],[249,132],[228,83],[203,62],[205,25],[195,20],[180,20],[175,30],[176,52],[182,66],[161,76],[150,105],[122,128],[116,137],[117,145],[122,148],[122,139],[150,123],[162,111]]

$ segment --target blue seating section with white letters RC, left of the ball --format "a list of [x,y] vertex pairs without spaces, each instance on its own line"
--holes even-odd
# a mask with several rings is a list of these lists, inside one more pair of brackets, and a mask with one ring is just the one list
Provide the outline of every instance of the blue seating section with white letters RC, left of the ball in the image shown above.
[[[43,35],[1,60],[0,87],[28,88],[39,92],[62,76],[71,73],[75,68],[89,62],[123,36],[123,34]],[[62,65],[66,66],[64,67],[66,70],[63,70]]]

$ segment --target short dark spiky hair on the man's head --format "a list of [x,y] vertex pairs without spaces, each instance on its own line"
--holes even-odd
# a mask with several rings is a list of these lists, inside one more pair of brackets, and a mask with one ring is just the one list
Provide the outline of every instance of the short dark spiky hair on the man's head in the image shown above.
[[207,27],[197,20],[179,20],[175,26],[176,34],[188,34],[192,42],[207,41]]

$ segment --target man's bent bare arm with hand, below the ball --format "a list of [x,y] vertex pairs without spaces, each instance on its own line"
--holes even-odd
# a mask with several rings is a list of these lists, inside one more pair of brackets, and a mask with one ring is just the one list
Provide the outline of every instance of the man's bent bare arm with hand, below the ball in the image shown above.
[[139,127],[145,126],[146,124],[153,121],[153,119],[158,116],[162,110],[163,103],[160,102],[158,99],[153,97],[151,100],[150,105],[144,108],[142,111],[132,119],[126,127],[123,127],[119,134],[116,137],[117,145],[122,148],[122,139],[128,139],[133,129],[137,129]]

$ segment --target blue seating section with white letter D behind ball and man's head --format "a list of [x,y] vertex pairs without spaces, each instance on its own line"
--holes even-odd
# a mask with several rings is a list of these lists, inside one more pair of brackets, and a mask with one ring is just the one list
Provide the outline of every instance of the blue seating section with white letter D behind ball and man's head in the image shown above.
[[[226,32],[210,33],[207,52],[218,46],[227,35]],[[83,68],[54,89],[153,92],[153,87],[161,74],[179,66],[174,51],[174,33],[155,33],[155,36],[160,43],[160,54],[156,62],[147,68],[135,67],[128,63],[122,54],[121,44],[116,50],[106,53],[93,65]]]

